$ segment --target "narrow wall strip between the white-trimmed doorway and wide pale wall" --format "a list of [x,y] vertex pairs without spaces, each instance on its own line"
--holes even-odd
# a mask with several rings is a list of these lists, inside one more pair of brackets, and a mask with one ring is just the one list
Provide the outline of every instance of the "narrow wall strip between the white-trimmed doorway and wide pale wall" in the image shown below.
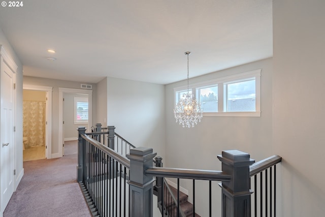
[[107,127],[107,77],[97,83],[97,99],[95,122]]

